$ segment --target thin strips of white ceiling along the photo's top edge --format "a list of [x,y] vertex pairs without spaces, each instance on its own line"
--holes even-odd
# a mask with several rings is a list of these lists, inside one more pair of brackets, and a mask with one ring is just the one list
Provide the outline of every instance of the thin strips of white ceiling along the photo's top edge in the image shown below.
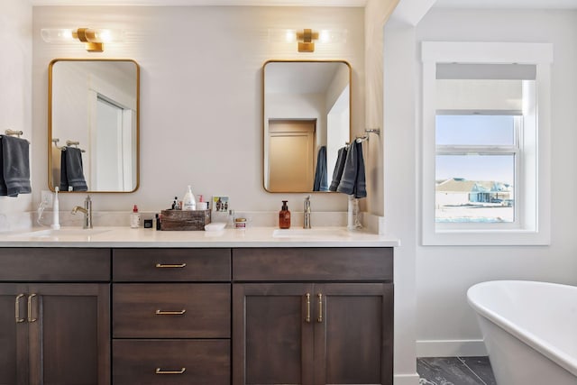
[[[30,0],[32,5],[255,5],[255,6],[360,6],[368,0]],[[411,1],[411,0],[400,0]],[[577,0],[436,0],[446,8],[553,8],[577,9]]]

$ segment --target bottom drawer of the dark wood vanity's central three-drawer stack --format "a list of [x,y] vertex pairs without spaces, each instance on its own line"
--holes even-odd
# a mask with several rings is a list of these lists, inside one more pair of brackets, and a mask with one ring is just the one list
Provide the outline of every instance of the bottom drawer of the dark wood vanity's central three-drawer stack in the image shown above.
[[230,371],[229,340],[113,341],[114,385],[229,385]]

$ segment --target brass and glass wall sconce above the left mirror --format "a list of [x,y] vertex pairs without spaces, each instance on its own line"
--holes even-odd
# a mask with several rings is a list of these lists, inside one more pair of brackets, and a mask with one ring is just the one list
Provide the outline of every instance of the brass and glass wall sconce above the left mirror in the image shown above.
[[102,52],[104,43],[122,41],[124,31],[101,28],[42,28],[42,40],[46,42],[82,41],[88,52]]

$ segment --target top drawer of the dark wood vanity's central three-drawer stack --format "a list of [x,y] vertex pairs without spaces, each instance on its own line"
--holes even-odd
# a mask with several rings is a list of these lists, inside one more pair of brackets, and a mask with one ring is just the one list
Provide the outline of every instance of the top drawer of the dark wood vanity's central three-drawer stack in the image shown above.
[[114,249],[114,281],[231,279],[230,249]]

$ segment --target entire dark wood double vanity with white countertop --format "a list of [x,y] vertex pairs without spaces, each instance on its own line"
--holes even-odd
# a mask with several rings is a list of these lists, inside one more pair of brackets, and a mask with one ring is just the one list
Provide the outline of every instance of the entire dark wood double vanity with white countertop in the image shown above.
[[392,384],[398,241],[271,234],[0,235],[0,382]]

